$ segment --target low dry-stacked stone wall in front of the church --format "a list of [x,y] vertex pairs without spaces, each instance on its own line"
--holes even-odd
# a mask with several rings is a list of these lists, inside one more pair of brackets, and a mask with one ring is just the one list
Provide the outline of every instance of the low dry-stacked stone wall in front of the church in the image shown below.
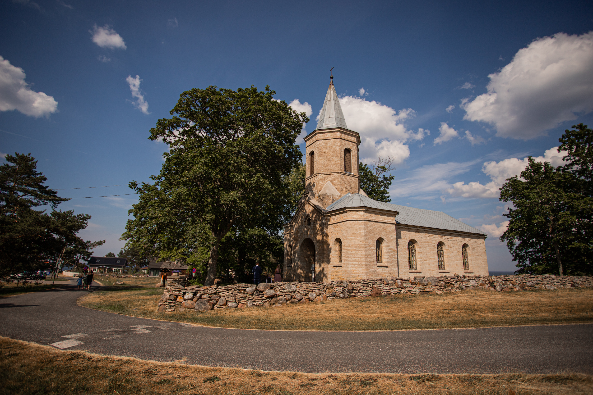
[[493,292],[556,290],[557,288],[593,287],[593,277],[555,275],[501,275],[449,277],[382,278],[375,280],[331,282],[274,282],[272,284],[233,284],[183,287],[168,281],[158,303],[160,312],[195,309],[236,309],[252,306],[282,306],[286,303],[310,303],[333,298],[425,294],[482,289]]

